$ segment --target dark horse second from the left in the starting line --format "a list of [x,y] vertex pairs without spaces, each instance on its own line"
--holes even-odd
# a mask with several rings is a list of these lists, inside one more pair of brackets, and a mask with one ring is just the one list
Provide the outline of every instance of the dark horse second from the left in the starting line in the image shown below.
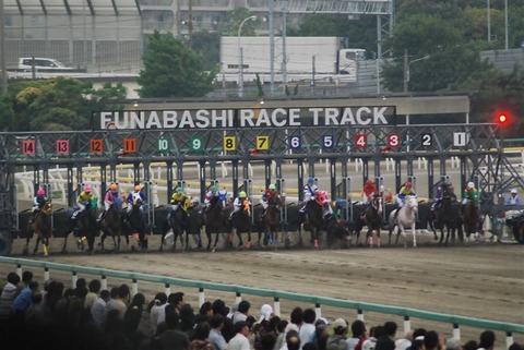
[[70,218],[69,220],[69,229],[66,232],[63,238],[63,246],[62,253],[67,252],[68,245],[68,236],[74,231],[74,228],[78,226],[79,231],[81,232],[81,243],[79,246],[83,245],[83,238],[87,240],[87,252],[93,254],[94,252],[94,243],[95,237],[99,230],[98,222],[96,222],[96,206],[97,206],[97,198],[91,198],[85,205],[84,212],[80,215],[80,217],[73,219]]

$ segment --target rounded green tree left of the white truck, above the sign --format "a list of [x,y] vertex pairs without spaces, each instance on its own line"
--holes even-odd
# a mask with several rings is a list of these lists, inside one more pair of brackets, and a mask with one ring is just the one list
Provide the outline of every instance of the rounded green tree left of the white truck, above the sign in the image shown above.
[[199,97],[213,90],[216,68],[206,70],[202,56],[172,34],[155,31],[144,52],[136,82],[141,97]]

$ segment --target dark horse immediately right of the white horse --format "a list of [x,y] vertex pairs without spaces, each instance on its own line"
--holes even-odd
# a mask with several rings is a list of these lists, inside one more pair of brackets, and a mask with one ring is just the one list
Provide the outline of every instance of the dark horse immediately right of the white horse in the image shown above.
[[456,195],[453,192],[453,188],[444,188],[444,193],[442,200],[439,204],[436,205],[434,209],[430,208],[428,215],[428,226],[433,231],[434,239],[438,239],[437,230],[440,229],[440,241],[439,244],[442,244],[444,240],[444,228],[446,230],[444,245],[448,245],[450,236],[452,241],[455,240],[455,230],[457,229],[457,207]]

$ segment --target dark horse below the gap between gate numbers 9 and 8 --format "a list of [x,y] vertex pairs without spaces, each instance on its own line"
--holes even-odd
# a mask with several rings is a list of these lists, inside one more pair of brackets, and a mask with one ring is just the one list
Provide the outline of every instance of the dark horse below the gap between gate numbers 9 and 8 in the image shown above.
[[216,234],[215,243],[213,244],[213,252],[218,243],[219,233],[229,233],[227,217],[230,213],[230,207],[225,207],[226,196],[222,194],[218,197],[211,197],[210,203],[204,212],[205,236],[207,236],[207,250],[211,251],[211,234]]

